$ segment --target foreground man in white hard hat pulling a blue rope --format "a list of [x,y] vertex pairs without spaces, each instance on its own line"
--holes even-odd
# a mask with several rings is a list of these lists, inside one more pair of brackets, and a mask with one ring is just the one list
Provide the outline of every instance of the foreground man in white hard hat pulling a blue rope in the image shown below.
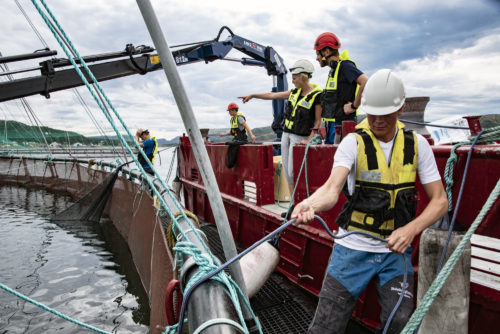
[[[382,308],[379,330],[383,329],[403,287],[403,256],[408,281],[388,333],[399,333],[411,315],[410,245],[415,236],[444,216],[448,200],[428,142],[398,121],[404,102],[401,79],[390,70],[377,71],[366,83],[361,99],[360,109],[367,118],[338,146],[326,183],[292,213],[296,225],[308,224],[315,213],[337,203],[347,181],[348,201],[337,217],[338,236],[364,231],[387,240],[354,234],[335,241],[309,333],[343,334],[357,298],[372,279]],[[417,173],[429,198],[418,216]]]

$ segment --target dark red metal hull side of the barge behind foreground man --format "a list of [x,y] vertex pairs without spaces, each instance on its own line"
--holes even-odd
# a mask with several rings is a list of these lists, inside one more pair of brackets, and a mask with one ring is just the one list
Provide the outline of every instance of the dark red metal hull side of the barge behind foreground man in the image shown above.
[[[467,153],[470,146],[460,147],[456,153],[458,161],[454,167],[453,204],[456,203],[459,185],[463,178]],[[207,143],[206,149],[221,191],[227,211],[233,236],[242,248],[252,245],[263,238],[282,223],[279,214],[263,208],[275,204],[274,200],[274,169],[273,149],[271,145],[244,145],[240,147],[238,163],[234,168],[224,164],[227,146],[221,143]],[[311,146],[307,154],[307,183],[309,192],[313,193],[328,178],[333,164],[336,145]],[[450,156],[451,146],[433,146],[441,176]],[[294,148],[294,178],[304,157],[305,146]],[[203,181],[193,155],[189,138],[180,138],[179,178],[184,187],[185,206],[194,212],[201,220],[215,223],[205,192]],[[476,146],[467,175],[462,204],[457,215],[457,223],[467,229],[476,218],[481,207],[500,178],[500,146]],[[418,184],[418,212],[425,207],[428,199],[423,188]],[[299,202],[307,197],[304,175],[300,177],[295,194]],[[338,226],[335,219],[345,202],[342,198],[330,211],[320,216],[327,222],[330,229]],[[500,267],[498,252],[500,252],[500,201],[497,201],[476,231],[484,236],[488,245],[474,245],[497,254],[496,259],[486,259],[493,267]],[[482,239],[481,239],[482,240]],[[287,229],[281,238],[281,259],[277,270],[303,289],[318,295],[331,254],[333,240],[323,230],[319,222],[309,226],[301,225]],[[413,243],[413,263],[415,283],[418,275],[419,238]],[[497,247],[498,246],[498,247]],[[473,253],[474,259],[474,253]],[[479,258],[480,259],[480,258]],[[480,259],[481,261],[485,259]],[[489,270],[482,266],[474,267],[472,272],[481,277],[486,276],[489,283],[474,282],[471,278],[469,333],[488,333],[494,328],[496,319],[500,317],[500,272],[495,268]],[[490,266],[491,267],[491,266]],[[486,268],[489,268],[486,266]],[[472,275],[471,275],[472,277]],[[497,284],[498,283],[498,284]],[[415,284],[416,286],[416,284]],[[416,291],[415,291],[416,292]],[[374,306],[375,305],[375,306]],[[379,323],[379,307],[376,291],[370,286],[358,300],[353,317],[356,321],[369,328],[375,328]]]

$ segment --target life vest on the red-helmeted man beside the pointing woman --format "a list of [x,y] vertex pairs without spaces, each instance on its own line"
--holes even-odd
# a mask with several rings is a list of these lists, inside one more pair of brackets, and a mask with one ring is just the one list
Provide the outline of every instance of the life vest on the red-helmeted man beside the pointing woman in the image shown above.
[[[337,62],[337,67],[335,69],[331,69],[328,74],[328,79],[326,81],[324,93],[321,96],[321,108],[323,109],[321,113],[321,117],[324,121],[328,122],[341,122],[345,120],[354,120],[358,111],[350,115],[344,114],[344,104],[348,101],[339,101],[338,97],[338,78],[340,66],[342,66],[342,62],[350,61],[356,66],[356,63],[349,59],[349,52],[344,50],[340,54],[340,60]],[[356,84],[356,92],[354,93],[354,98],[358,95],[359,85]],[[339,116],[340,115],[340,116]],[[335,116],[337,116],[335,118]]]

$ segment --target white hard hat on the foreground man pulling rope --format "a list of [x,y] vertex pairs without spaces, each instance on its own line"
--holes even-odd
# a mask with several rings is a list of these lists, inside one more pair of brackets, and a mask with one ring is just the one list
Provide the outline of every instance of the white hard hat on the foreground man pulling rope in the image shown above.
[[369,115],[388,115],[405,103],[405,86],[391,70],[378,70],[366,82],[359,110]]

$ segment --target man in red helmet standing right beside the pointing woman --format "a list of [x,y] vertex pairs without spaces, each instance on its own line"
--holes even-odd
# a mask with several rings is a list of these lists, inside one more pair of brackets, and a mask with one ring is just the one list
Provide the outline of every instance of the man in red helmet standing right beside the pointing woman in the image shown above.
[[342,121],[355,121],[361,104],[361,93],[368,77],[349,59],[344,50],[339,54],[340,40],[331,32],[324,32],[316,38],[314,50],[321,67],[330,66],[330,73],[321,97],[322,118],[326,122],[325,144],[338,143],[335,125]]

